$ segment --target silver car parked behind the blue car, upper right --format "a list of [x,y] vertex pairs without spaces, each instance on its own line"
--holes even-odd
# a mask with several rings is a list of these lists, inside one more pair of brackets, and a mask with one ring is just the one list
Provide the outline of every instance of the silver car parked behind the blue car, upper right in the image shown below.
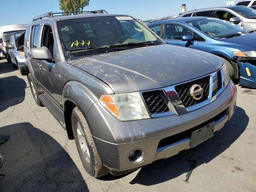
[[214,17],[244,27],[248,32],[256,31],[256,10],[245,6],[198,9],[179,15],[179,17],[193,16]]

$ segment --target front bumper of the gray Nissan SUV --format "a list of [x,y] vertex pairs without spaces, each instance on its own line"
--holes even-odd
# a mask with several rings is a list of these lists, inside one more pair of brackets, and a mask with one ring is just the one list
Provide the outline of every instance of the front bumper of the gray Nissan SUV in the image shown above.
[[[232,117],[235,105],[236,88],[231,81],[215,101],[183,115],[121,122],[96,102],[86,117],[102,163],[119,175],[189,149],[191,132],[206,123],[215,121],[214,131],[219,131]],[[127,161],[134,149],[144,152],[144,160],[137,164]]]

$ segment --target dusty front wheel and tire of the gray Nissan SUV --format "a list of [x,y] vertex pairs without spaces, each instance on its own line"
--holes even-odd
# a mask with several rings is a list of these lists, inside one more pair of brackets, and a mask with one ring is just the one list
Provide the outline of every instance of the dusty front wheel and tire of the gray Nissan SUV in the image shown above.
[[77,107],[72,111],[71,121],[75,144],[86,172],[95,178],[108,174],[109,170],[100,160],[87,121]]

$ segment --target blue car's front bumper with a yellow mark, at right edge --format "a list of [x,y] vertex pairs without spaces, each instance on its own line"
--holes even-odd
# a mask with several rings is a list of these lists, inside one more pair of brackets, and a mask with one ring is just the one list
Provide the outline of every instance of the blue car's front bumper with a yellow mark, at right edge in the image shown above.
[[256,60],[238,60],[240,84],[256,88]]

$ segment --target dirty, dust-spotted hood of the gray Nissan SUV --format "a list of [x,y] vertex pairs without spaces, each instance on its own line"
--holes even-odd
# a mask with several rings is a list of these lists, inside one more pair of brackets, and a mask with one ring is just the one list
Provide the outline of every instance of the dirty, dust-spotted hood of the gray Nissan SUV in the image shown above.
[[221,59],[191,48],[158,45],[110,52],[69,61],[110,86],[114,93],[182,83],[221,66]]

